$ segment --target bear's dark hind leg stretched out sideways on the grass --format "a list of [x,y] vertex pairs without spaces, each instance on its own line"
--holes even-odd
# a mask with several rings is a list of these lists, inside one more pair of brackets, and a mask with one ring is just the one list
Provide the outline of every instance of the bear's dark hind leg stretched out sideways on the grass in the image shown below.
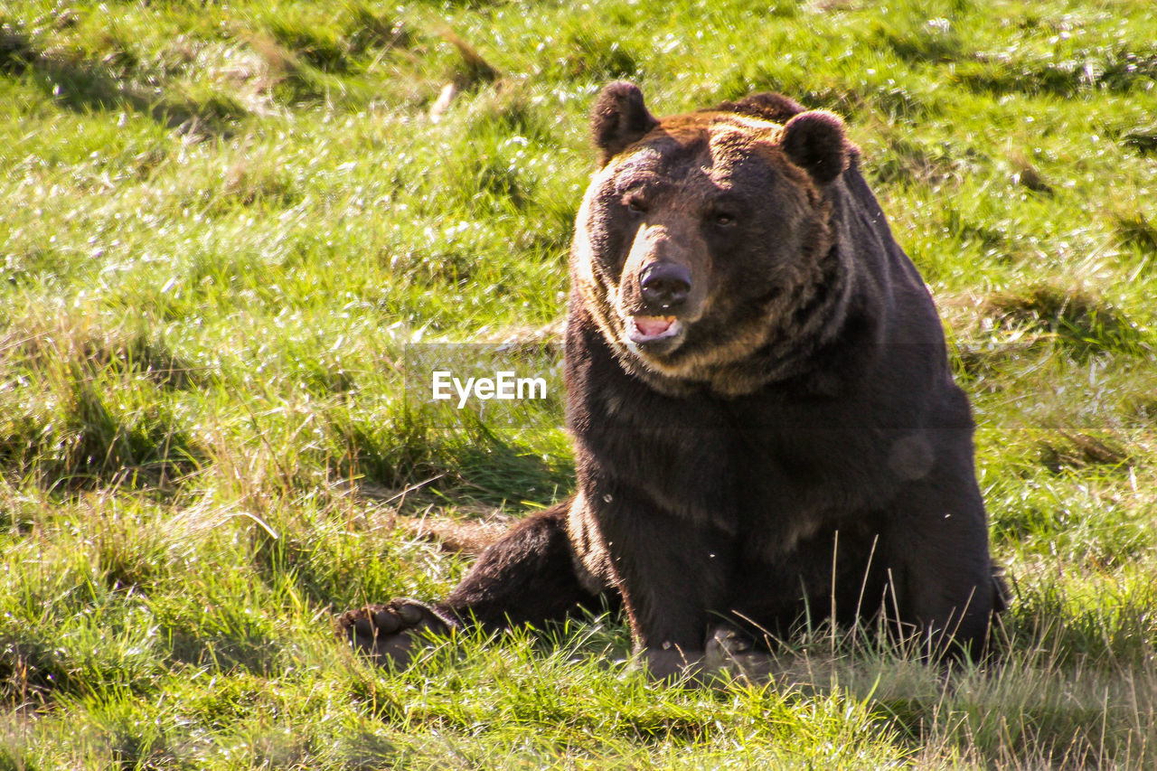
[[338,617],[351,645],[378,662],[405,667],[415,634],[445,633],[479,625],[488,631],[558,621],[599,595],[583,587],[567,537],[570,501],[526,517],[487,548],[462,582],[443,601],[392,600]]

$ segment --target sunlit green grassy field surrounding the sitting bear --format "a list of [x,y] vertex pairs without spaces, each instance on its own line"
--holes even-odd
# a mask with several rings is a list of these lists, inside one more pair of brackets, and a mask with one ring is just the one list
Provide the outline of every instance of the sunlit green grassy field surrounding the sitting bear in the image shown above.
[[[1157,768],[1149,0],[647,8],[3,3],[0,769]],[[846,116],[973,397],[1000,664],[816,629],[686,689],[613,617],[405,673],[334,639],[469,565],[399,514],[567,494],[557,396],[433,410],[403,366],[555,339],[617,78]]]

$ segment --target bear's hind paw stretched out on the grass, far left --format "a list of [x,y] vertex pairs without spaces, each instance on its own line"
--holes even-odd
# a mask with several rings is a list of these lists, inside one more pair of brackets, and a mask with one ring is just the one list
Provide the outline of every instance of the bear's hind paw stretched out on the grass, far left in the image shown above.
[[451,623],[436,610],[417,600],[391,600],[385,604],[373,604],[347,610],[338,616],[339,634],[344,636],[354,651],[375,662],[398,669],[410,664],[415,634],[432,631],[444,634]]

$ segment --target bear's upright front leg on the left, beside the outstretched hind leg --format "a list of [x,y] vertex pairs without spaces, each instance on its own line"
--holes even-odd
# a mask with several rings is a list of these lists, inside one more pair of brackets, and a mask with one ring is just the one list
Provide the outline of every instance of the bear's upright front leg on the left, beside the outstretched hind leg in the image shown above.
[[669,678],[697,671],[708,629],[723,609],[735,564],[732,536],[668,513],[605,477],[588,477],[584,498],[595,501],[588,515],[610,557],[635,649],[649,674]]

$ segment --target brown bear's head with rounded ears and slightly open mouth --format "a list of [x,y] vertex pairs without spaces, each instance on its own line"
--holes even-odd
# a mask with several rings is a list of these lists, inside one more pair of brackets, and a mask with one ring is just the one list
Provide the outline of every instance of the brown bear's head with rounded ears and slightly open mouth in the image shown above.
[[856,150],[839,117],[758,94],[659,120],[617,82],[592,133],[572,280],[628,372],[736,396],[823,342],[847,300],[833,201]]

